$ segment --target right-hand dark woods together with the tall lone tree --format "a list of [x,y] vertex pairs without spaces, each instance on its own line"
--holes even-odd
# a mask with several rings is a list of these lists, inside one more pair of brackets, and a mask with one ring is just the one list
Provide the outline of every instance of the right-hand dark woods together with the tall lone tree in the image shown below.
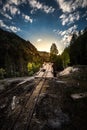
[[72,34],[69,46],[61,55],[58,55],[55,43],[52,44],[50,60],[56,64],[57,71],[73,65],[87,65],[87,28],[82,33],[79,31],[78,35]]

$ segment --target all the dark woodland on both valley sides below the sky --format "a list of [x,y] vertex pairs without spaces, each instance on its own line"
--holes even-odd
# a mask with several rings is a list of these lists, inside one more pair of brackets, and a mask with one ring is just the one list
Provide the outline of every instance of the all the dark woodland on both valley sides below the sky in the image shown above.
[[55,63],[57,71],[67,66],[87,65],[87,29],[78,35],[73,33],[70,45],[61,55],[58,53],[55,43],[50,53],[39,52],[29,41],[0,29],[0,78],[33,75],[44,61]]

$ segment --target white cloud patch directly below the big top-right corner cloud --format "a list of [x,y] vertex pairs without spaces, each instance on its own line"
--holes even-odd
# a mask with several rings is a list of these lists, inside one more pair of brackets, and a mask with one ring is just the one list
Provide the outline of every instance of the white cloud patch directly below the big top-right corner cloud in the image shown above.
[[80,15],[79,12],[75,12],[72,14],[62,14],[59,18],[62,21],[62,25],[65,25],[65,24],[72,24],[75,21],[79,20]]

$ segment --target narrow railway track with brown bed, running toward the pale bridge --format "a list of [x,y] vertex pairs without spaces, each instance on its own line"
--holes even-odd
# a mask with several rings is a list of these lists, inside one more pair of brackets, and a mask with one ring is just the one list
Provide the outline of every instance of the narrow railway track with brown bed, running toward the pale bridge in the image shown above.
[[29,97],[29,100],[27,101],[26,105],[22,109],[20,116],[18,116],[16,122],[11,127],[11,130],[28,129],[31,119],[32,119],[32,115],[34,113],[35,106],[39,98],[39,95],[44,86],[46,75],[47,75],[47,72],[44,72],[43,76],[39,79],[38,83],[36,84],[35,89],[33,90],[31,96]]

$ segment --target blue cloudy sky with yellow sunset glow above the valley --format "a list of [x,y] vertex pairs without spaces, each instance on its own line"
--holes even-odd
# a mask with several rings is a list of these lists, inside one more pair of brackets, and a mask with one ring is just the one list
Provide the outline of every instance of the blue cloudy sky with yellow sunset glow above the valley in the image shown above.
[[73,32],[87,27],[87,0],[0,0],[0,28],[30,41],[39,51],[59,53]]

